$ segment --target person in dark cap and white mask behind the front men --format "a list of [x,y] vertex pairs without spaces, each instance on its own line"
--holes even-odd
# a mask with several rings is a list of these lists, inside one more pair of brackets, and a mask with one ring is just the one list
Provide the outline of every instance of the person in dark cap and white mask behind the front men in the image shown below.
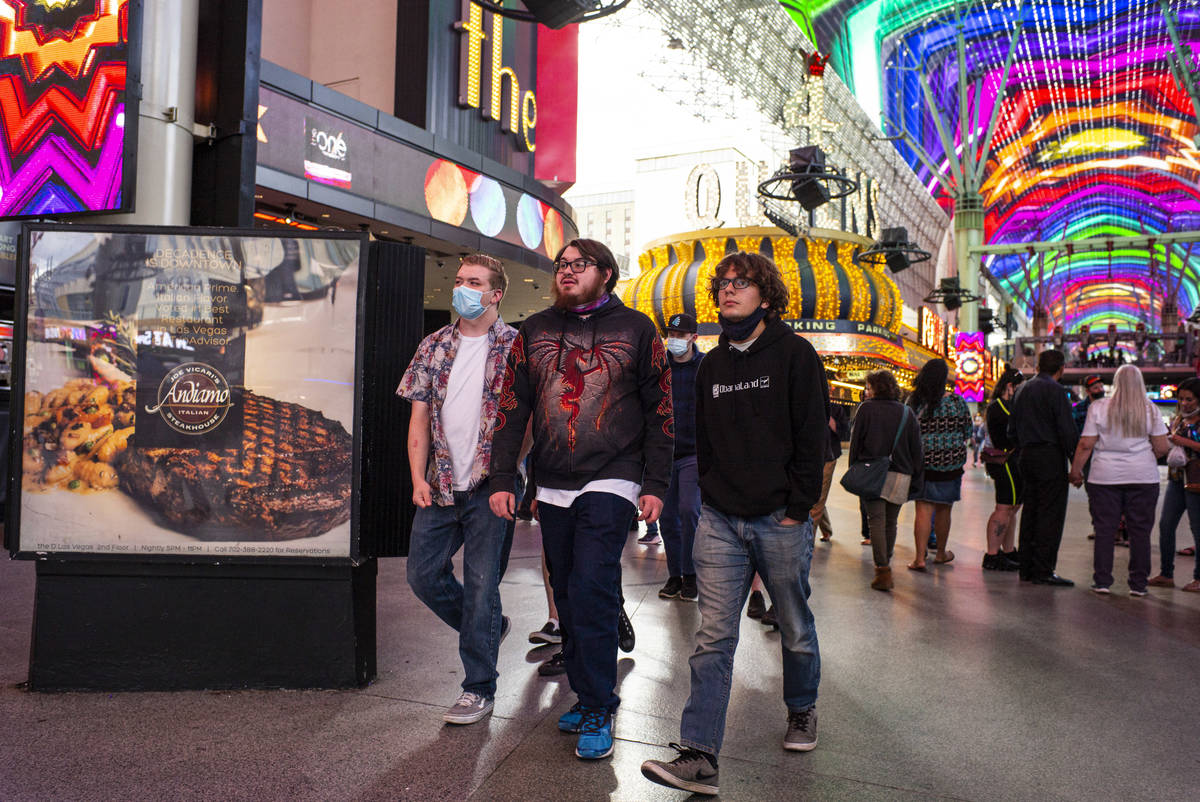
[[662,499],[662,547],[667,552],[667,583],[660,599],[695,602],[696,567],[691,546],[700,520],[700,478],[696,473],[696,370],[704,354],[696,347],[696,318],[686,312],[667,321],[667,353],[671,354],[671,397],[674,405],[676,450],[671,486]]

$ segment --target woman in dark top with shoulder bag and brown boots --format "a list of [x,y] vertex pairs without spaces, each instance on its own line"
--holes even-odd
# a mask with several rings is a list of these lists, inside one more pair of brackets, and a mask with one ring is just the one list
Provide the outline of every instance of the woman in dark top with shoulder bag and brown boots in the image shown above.
[[[858,407],[850,432],[850,463],[890,456],[889,472],[911,477],[908,497],[920,490],[920,426],[917,417],[900,402],[900,385],[890,372],[866,376],[870,397]],[[901,429],[902,426],[902,429]],[[898,436],[899,435],[899,436]],[[896,519],[901,504],[894,498],[863,498],[875,558],[871,587],[890,591],[892,552],[896,544]]]

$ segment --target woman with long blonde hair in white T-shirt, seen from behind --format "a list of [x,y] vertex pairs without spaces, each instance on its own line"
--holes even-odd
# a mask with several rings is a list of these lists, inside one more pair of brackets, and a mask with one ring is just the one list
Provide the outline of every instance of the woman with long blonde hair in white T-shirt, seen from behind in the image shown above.
[[1072,461],[1070,483],[1084,484],[1096,529],[1092,591],[1109,593],[1112,585],[1112,546],[1124,519],[1129,538],[1129,595],[1146,595],[1150,575],[1150,532],[1158,503],[1158,457],[1170,449],[1166,424],[1146,396],[1141,371],[1122,365],[1112,377],[1112,396],[1097,399],[1087,408],[1084,433]]

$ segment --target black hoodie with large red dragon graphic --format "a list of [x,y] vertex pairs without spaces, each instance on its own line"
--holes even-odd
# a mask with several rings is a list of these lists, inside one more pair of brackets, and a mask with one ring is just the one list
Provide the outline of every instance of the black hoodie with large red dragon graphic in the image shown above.
[[650,318],[616,295],[578,315],[550,307],[512,342],[492,441],[492,492],[511,492],[533,415],[538,486],[625,479],[665,498],[673,420],[667,353]]

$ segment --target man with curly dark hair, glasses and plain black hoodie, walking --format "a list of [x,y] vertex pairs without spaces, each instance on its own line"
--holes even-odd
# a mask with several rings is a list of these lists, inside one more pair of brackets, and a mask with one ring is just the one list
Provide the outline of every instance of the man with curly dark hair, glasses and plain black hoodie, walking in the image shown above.
[[816,351],[780,319],[787,287],[774,263],[738,252],[712,285],[724,334],[696,376],[696,454],[703,501],[696,531],[700,632],[679,756],[642,774],[695,794],[718,792],[716,755],[733,678],[738,623],[757,571],[779,618],[784,652],[784,748],[816,746],[821,678],[809,609],[810,510],[821,496],[829,388]]

